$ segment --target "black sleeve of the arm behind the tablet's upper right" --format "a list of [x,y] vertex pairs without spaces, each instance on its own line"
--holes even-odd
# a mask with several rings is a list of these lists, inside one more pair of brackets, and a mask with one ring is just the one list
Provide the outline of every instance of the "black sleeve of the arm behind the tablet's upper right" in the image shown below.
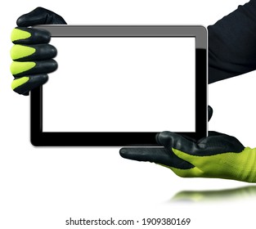
[[209,33],[209,83],[256,70],[256,0],[224,16]]

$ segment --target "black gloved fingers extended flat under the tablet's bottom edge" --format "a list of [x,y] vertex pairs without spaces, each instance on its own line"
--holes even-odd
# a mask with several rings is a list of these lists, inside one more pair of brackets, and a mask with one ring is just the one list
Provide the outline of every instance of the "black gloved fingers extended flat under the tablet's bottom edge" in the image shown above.
[[166,148],[125,147],[119,150],[119,154],[125,159],[149,161],[172,168],[188,169],[194,167],[193,164],[178,158],[171,150]]

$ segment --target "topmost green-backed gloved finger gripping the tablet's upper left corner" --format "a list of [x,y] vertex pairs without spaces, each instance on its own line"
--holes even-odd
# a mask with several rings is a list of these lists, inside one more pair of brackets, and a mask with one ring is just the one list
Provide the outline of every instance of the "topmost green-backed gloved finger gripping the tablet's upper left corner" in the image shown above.
[[11,42],[15,44],[49,43],[51,34],[44,29],[16,27],[11,31]]

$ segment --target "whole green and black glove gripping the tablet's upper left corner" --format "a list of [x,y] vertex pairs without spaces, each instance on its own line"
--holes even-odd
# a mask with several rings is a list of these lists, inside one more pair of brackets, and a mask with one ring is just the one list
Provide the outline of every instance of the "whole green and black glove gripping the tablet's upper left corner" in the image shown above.
[[22,95],[47,82],[49,73],[57,69],[52,58],[57,54],[56,48],[48,44],[51,34],[43,29],[33,29],[33,25],[65,25],[65,20],[52,11],[42,7],[20,16],[11,33],[11,74],[14,80],[11,88]]

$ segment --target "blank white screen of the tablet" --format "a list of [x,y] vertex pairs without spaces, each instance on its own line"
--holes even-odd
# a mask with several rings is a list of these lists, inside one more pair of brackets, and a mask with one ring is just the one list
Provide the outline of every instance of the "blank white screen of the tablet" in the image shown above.
[[195,38],[52,38],[43,132],[195,132]]

